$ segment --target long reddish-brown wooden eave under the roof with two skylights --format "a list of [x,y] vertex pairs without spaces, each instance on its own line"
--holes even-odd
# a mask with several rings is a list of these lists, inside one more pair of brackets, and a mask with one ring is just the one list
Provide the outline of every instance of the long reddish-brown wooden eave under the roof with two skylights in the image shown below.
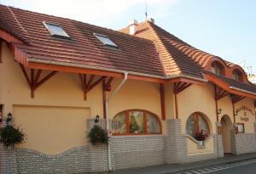
[[[50,65],[50,64],[43,64],[38,62],[29,62],[28,57],[30,56],[24,53],[22,50],[20,50],[20,48],[17,48],[19,44],[26,44],[26,42],[21,41],[19,38],[10,34],[7,31],[4,31],[3,29],[0,29],[0,38],[2,38],[4,41],[9,43],[9,48],[12,51],[12,53],[14,53],[15,60],[18,61],[21,65],[24,65],[24,67],[28,69],[64,71],[64,72],[70,72],[70,73],[76,73],[76,74],[110,76],[115,78],[124,77],[124,73],[111,71],[111,70],[96,70],[96,69],[80,68],[75,66]],[[199,85],[203,85],[205,83],[204,81],[189,79],[189,77],[174,77],[172,79],[165,79],[164,77],[158,78],[154,76],[142,76],[142,75],[135,75],[135,74],[128,74],[128,79],[138,80],[138,81],[151,81],[151,82],[157,82],[161,84],[174,83],[178,81],[192,83],[192,84],[199,84]]]

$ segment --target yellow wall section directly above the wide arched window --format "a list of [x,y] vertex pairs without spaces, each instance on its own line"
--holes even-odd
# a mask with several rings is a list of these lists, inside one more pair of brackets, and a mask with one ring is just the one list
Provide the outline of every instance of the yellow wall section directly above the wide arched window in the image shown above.
[[[121,80],[113,81],[112,88],[115,89]],[[107,95],[107,98],[109,93]],[[112,98],[109,103],[110,119],[125,109],[145,109],[159,116],[163,132],[165,125],[161,119],[160,108],[160,85],[146,81],[129,80]]]

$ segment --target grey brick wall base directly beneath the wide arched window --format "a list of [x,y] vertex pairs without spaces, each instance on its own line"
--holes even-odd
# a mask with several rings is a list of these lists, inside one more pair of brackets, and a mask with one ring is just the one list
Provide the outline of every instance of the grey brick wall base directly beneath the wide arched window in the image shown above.
[[165,136],[113,136],[111,144],[113,169],[165,163]]

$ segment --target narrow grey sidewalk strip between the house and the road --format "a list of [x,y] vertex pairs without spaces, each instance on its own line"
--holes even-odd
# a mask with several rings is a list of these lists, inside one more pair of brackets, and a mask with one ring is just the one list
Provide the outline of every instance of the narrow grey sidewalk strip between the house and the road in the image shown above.
[[193,163],[184,164],[173,164],[173,165],[160,165],[160,166],[147,166],[143,168],[132,168],[124,169],[118,171],[110,171],[111,174],[171,174],[179,171],[197,169],[206,166],[216,166],[224,163],[235,163],[242,160],[250,160],[256,158],[256,153],[252,154],[240,154],[240,155],[230,155],[223,158],[204,160]]

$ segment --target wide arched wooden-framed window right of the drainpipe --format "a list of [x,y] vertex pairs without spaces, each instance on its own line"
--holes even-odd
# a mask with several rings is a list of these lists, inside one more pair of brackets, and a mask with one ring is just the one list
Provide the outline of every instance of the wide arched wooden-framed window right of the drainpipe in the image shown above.
[[113,117],[113,135],[142,135],[161,133],[157,115],[146,110],[131,109]]

